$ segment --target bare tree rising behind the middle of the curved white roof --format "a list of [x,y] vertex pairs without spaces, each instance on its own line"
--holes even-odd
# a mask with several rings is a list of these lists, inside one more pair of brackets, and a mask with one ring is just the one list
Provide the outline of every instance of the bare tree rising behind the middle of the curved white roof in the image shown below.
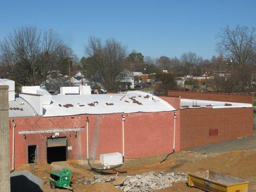
[[87,71],[93,80],[110,91],[118,89],[118,76],[124,69],[126,48],[113,38],[108,38],[103,44],[100,38],[91,36],[85,51],[89,56],[86,61]]

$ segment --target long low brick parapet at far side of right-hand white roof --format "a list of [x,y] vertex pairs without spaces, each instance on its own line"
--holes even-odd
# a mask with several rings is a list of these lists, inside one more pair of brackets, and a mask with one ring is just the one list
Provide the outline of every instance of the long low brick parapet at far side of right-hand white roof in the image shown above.
[[201,93],[201,92],[189,92],[189,91],[168,91],[168,96],[181,96],[181,98],[186,98],[186,99],[226,101],[226,102],[253,104],[253,95]]

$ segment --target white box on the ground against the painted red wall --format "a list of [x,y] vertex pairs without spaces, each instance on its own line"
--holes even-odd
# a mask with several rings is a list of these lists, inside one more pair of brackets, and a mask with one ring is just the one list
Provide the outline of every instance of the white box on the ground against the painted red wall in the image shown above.
[[122,154],[118,152],[99,154],[99,161],[103,166],[114,166],[123,164]]

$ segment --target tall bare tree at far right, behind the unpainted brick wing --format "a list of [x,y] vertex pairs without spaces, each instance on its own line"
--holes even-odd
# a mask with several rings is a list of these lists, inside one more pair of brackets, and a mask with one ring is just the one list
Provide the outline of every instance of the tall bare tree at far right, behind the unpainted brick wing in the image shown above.
[[232,92],[237,89],[238,92],[249,93],[256,62],[255,29],[239,25],[231,29],[226,26],[220,29],[217,37],[217,51],[224,59],[230,60],[232,66]]

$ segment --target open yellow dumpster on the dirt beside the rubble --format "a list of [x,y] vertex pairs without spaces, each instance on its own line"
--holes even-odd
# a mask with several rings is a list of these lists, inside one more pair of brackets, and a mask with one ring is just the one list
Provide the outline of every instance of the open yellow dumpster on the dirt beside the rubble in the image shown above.
[[249,181],[206,170],[188,173],[187,183],[207,192],[247,192]]

